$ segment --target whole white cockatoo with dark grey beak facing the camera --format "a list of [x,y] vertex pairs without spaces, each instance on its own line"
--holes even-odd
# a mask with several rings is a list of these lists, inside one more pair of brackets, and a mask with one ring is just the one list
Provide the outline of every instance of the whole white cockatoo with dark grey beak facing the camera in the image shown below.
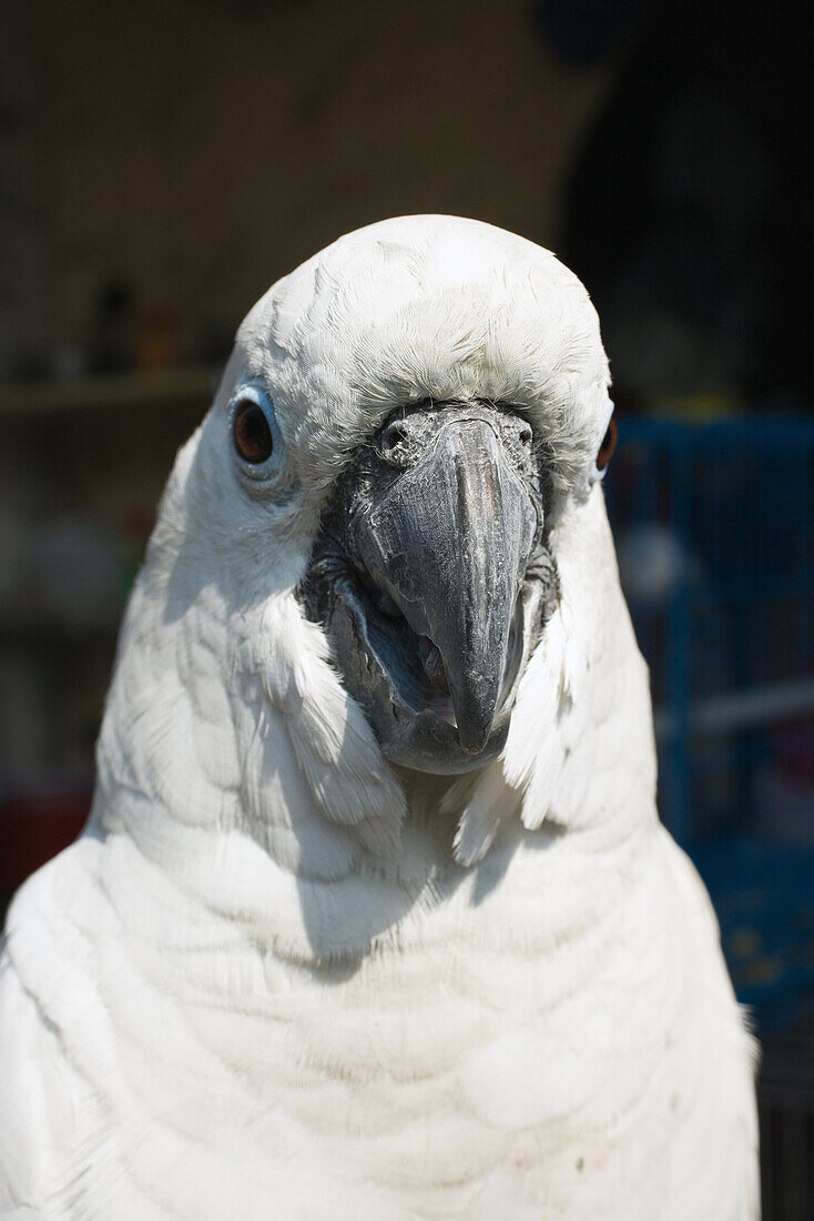
[[0,1212],[752,1221],[753,1044],[659,824],[596,313],[443,216],[243,322],[81,839],[9,916]]

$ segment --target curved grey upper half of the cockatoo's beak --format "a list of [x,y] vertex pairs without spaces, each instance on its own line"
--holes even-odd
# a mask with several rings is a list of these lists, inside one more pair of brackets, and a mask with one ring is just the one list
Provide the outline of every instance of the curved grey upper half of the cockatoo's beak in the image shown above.
[[[537,510],[494,430],[452,420],[356,521],[356,543],[449,686],[465,751],[486,746],[516,673]],[[425,651],[426,654],[426,651]],[[426,664],[426,663],[425,663]],[[432,662],[430,664],[432,670]]]

